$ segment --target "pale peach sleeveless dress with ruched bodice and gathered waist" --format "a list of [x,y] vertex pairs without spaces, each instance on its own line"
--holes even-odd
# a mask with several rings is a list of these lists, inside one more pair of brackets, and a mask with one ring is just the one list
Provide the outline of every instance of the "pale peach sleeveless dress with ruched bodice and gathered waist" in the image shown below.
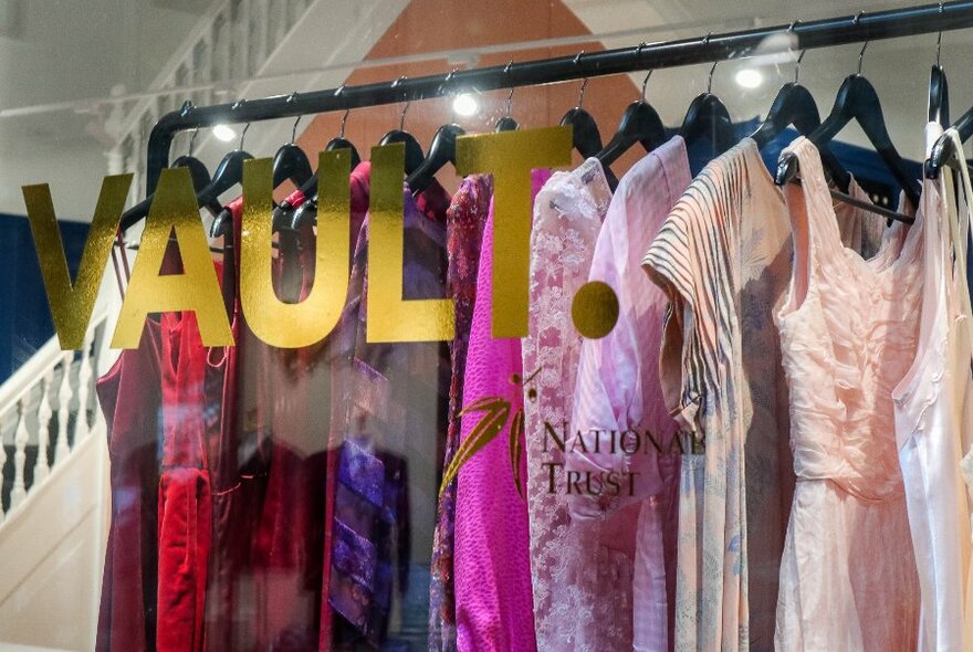
[[[777,315],[798,482],[781,562],[783,650],[913,650],[919,578],[892,391],[916,358],[925,215],[869,261],[841,244],[817,149],[788,148],[794,275]],[[881,253],[889,252],[888,255]]]

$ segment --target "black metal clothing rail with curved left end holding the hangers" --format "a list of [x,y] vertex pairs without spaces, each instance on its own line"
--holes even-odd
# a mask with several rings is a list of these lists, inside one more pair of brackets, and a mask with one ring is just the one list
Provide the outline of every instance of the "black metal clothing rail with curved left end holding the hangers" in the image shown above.
[[[379,106],[430,99],[467,91],[494,91],[520,86],[536,86],[616,75],[637,71],[713,63],[755,55],[767,55],[791,50],[808,50],[862,43],[899,36],[928,34],[973,27],[973,0],[940,2],[879,12],[859,12],[856,15],[828,18],[816,21],[756,28],[751,30],[707,34],[702,38],[681,39],[659,43],[642,43],[631,48],[604,50],[575,56],[558,56],[490,67],[453,71],[446,75],[399,77],[398,80],[341,86],[291,95],[275,95],[262,99],[239,101],[206,107],[187,105],[163,116],[148,139],[146,161],[146,192],[151,193],[159,173],[169,164],[169,148],[176,134],[218,124],[249,124],[260,120],[296,117],[367,106]],[[791,33],[796,46],[768,39],[774,34]],[[777,43],[777,45],[774,45]],[[771,44],[771,48],[767,45]],[[132,227],[137,220],[122,224]]]

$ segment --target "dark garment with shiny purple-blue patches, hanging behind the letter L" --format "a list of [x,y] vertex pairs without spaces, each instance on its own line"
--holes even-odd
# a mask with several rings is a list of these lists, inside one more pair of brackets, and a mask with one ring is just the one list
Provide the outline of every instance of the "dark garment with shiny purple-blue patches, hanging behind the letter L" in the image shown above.
[[[404,207],[404,298],[442,298],[449,198],[439,183],[417,198],[406,188]],[[428,456],[441,446],[447,425],[446,343],[366,340],[369,219],[366,215],[355,250],[352,298],[333,341],[335,364],[346,379],[334,387],[339,410],[331,433],[336,483],[327,495],[333,514],[328,637],[335,646],[387,644],[394,596],[405,603],[409,591],[428,590],[425,581],[409,581],[410,536],[414,527],[432,532],[433,511],[422,512],[423,519],[414,526],[409,496],[417,504],[435,504],[438,486],[435,479],[421,475],[409,486],[406,460],[423,452]],[[417,616],[404,613],[404,629],[423,629],[428,617],[422,613],[421,622],[414,622]]]

